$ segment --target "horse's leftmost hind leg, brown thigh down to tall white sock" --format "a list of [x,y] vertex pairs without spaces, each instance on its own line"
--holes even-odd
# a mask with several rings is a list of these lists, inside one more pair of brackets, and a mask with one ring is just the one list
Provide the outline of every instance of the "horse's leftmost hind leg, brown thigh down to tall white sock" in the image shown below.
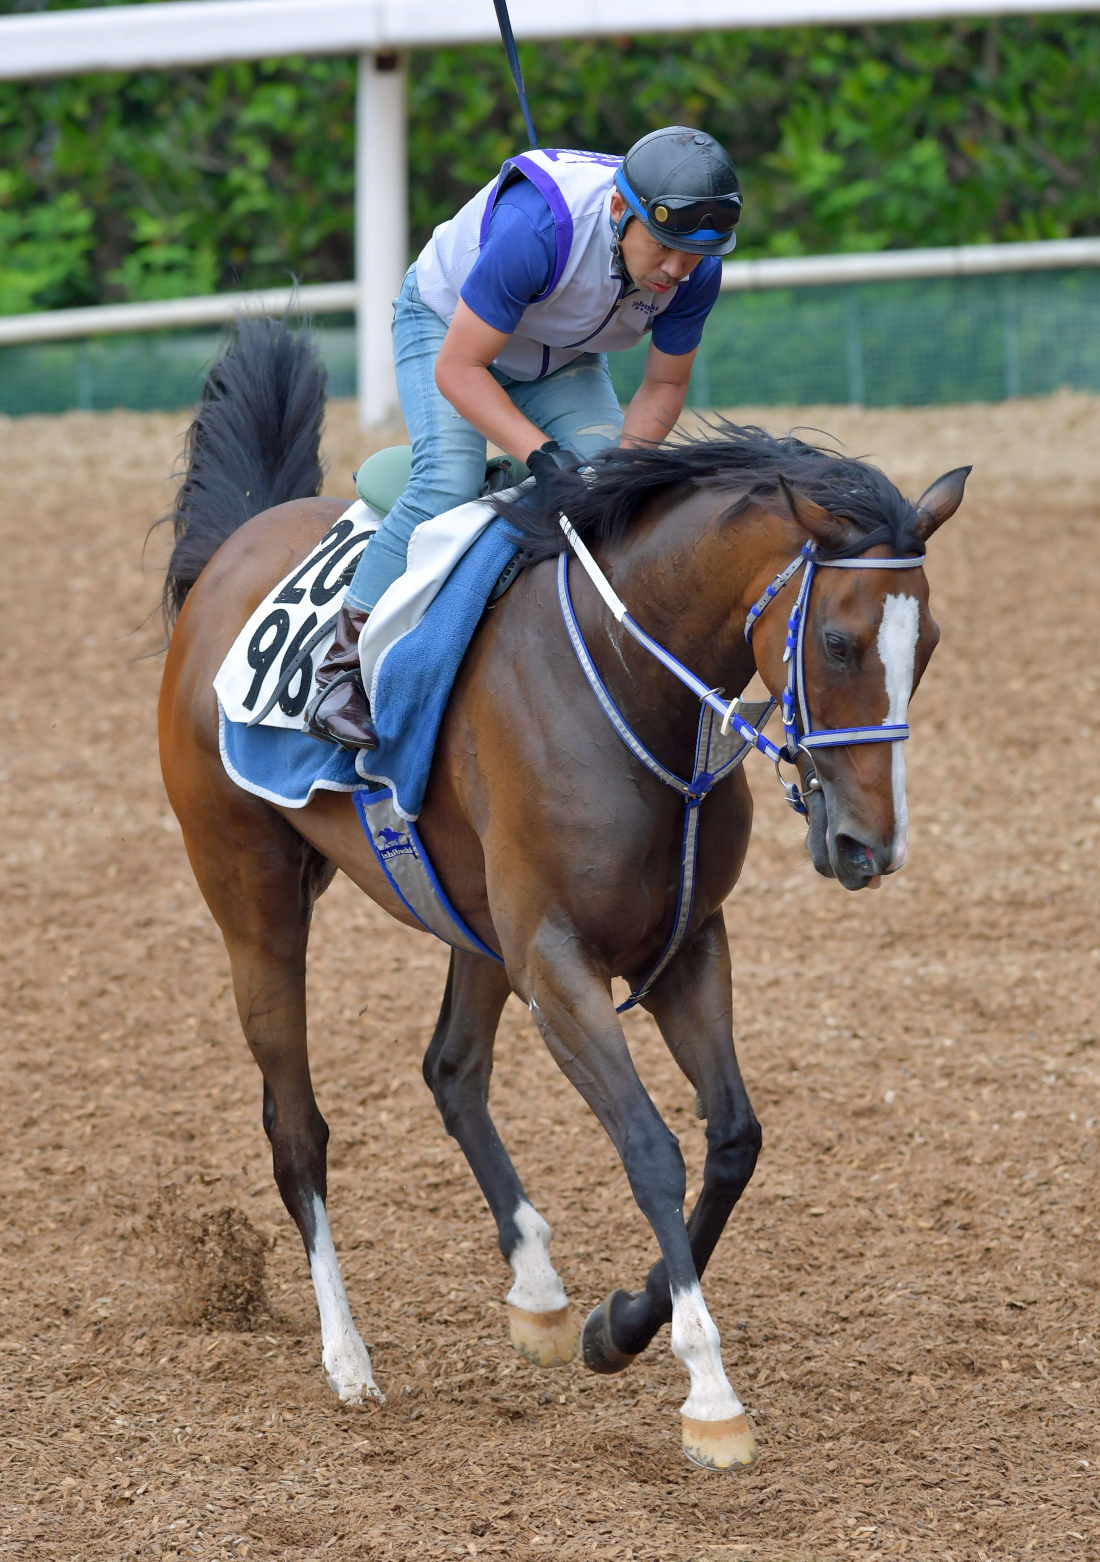
[[264,1076],[264,1129],[275,1182],[309,1259],[325,1376],[345,1404],[381,1400],[328,1229],[328,1125],[306,1050],[309,918],[334,868],[272,808],[228,781],[216,800],[186,801],[173,789],[191,865],[230,954],[241,1025]]

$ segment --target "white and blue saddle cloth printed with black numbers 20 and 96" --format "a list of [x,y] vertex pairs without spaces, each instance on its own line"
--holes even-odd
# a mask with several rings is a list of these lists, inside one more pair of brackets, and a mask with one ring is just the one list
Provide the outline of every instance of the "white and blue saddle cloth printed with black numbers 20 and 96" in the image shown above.
[[[400,818],[417,817],[455,675],[516,551],[505,522],[481,500],[417,526],[405,575],[378,600],[359,640],[378,748],[352,756],[309,737],[303,712],[333,639],[325,626],[380,519],[361,500],[348,506],[256,608],[214,679],[228,775],[284,808],[305,808],[316,790],[373,784],[389,789]],[[303,651],[300,670],[273,700]]]

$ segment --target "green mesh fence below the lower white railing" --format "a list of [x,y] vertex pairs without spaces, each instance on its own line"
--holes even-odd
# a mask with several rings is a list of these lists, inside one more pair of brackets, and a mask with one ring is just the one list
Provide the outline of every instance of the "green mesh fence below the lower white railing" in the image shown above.
[[[184,408],[219,345],[169,331],[0,348],[0,412]],[[317,330],[330,394],[355,394],[355,331]],[[622,400],[645,347],[617,353]],[[1019,272],[723,295],[691,386],[694,406],[928,406],[1100,392],[1100,269]]]

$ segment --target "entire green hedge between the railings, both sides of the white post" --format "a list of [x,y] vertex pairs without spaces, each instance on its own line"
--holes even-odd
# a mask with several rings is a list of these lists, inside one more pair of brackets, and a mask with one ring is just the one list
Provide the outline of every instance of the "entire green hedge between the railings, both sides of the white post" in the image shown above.
[[[547,145],[723,141],[745,255],[1100,231],[1100,17],[520,53]],[[353,98],[342,58],[0,84],[0,312],[350,276]],[[500,48],[416,52],[414,248],[520,145]]]

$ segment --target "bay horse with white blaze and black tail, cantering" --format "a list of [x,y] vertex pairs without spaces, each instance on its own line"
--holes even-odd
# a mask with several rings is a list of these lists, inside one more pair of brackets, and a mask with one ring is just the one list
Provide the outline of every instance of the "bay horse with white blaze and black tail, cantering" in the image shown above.
[[[250,614],[345,508],[317,497],[323,408],[308,339],[278,322],[242,322],[208,376],[166,517],[177,539],[166,580],[175,622],[159,747],[262,1075],[262,1125],[316,1289],[322,1367],[339,1400],[356,1404],[383,1395],[325,1212],[328,1128],[309,1079],[306,940],[314,901],[338,868],[397,922],[419,923],[380,870],[347,793],[320,792],[286,809],[228,778],[212,689]],[[641,1289],[614,1290],[589,1314],[584,1365],[628,1368],[670,1323],[689,1376],[681,1443],[706,1468],[744,1468],[756,1457],[700,1289],[761,1148],[734,1050],[722,909],[745,859],[752,795],[741,767],[708,778],[684,911],[683,790],[641,762],[595,698],[562,615],[561,575],[572,580],[575,628],[598,686],[639,747],[658,756],[658,770],[692,775],[698,698],[719,700],[728,720],[752,731],[739,697],[758,672],[784,701],[794,747],[772,745],[770,754],[798,764],[789,795],[806,814],[812,865],[844,889],[877,887],[905,861],[903,723],[939,637],[925,544],[961,503],[969,470],[938,478],[912,505],[864,461],[727,423],[703,437],[609,450],[584,476],[561,473],[550,494],[542,484],[495,501],[522,569],[462,658],[417,828],[452,904],[497,958],[452,953],[423,1078],[495,1220],[512,1275],[512,1345],[536,1365],[569,1361],[578,1331],[550,1257],[552,1232],[489,1114],[497,1022],[509,993],[527,1004],[611,1137],[661,1254]],[[594,573],[567,551],[562,515]],[[852,567],[817,569],[811,590],[809,569],[798,584],[800,561]],[[630,623],[608,611],[614,600],[631,609]],[[788,615],[795,600],[797,658]],[[698,698],[684,695],[673,661],[694,670]],[[845,736],[858,733],[873,740]],[[756,747],[769,751],[762,736]],[[678,914],[675,953],[645,981],[670,948]],[[631,982],[697,1092],[706,1164],[689,1218],[680,1142],[634,1072],[616,976]]]

